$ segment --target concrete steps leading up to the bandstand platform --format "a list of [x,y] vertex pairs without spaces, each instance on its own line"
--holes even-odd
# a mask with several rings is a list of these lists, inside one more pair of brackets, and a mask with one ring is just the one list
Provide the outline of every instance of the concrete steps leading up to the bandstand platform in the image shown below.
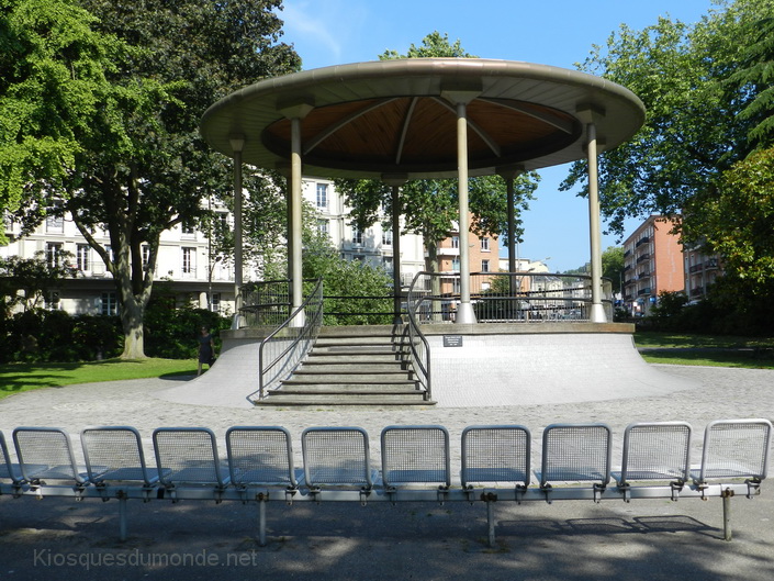
[[410,369],[402,333],[391,325],[322,327],[309,357],[256,405],[434,405]]

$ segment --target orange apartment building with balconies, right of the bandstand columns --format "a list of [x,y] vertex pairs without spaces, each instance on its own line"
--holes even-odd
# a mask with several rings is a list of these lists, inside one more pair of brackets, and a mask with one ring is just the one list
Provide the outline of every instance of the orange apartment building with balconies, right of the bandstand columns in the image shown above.
[[662,291],[685,289],[683,247],[675,220],[653,214],[624,243],[624,304],[633,316],[650,313]]

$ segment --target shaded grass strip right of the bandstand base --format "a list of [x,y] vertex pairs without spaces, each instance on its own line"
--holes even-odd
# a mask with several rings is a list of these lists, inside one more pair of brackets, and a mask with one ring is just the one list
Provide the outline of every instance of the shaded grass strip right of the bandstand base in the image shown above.
[[649,364],[774,369],[774,337],[638,332],[635,344]]

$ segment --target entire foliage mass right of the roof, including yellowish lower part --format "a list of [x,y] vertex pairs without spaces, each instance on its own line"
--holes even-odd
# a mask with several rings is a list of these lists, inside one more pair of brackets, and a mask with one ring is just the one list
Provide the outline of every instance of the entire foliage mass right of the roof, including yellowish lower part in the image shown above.
[[[628,216],[682,212],[684,244],[720,254],[738,284],[770,294],[774,0],[715,3],[694,25],[622,25],[580,65],[647,108],[639,133],[601,156],[601,203],[619,234]],[[562,188],[584,175],[585,164],[574,164]]]

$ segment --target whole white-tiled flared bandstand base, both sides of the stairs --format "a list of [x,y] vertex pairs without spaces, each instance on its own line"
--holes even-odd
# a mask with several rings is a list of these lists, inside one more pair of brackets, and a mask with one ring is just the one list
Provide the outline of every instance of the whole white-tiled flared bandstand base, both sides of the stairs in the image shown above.
[[[346,335],[352,328],[330,331]],[[440,407],[662,396],[696,387],[647,365],[635,347],[632,325],[441,324],[423,332],[430,344],[433,400]],[[251,407],[247,396],[258,389],[258,345],[266,333],[224,333],[211,370],[156,395],[194,405]]]

